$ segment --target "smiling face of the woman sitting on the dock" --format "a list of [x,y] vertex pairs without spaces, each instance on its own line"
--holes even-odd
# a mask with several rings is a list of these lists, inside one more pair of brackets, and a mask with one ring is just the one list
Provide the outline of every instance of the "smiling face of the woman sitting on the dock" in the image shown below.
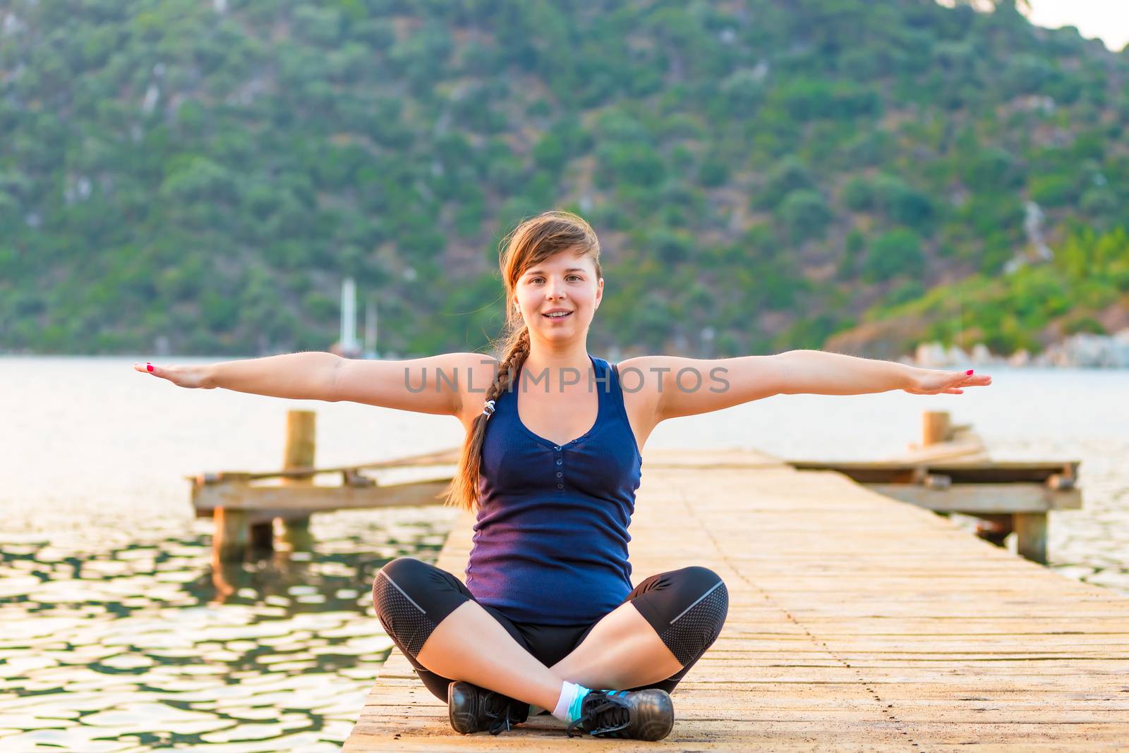
[[[531,335],[568,339],[588,330],[603,292],[604,281],[596,277],[592,258],[560,251],[518,277],[510,305],[517,303]],[[550,311],[568,313],[550,317]]]

